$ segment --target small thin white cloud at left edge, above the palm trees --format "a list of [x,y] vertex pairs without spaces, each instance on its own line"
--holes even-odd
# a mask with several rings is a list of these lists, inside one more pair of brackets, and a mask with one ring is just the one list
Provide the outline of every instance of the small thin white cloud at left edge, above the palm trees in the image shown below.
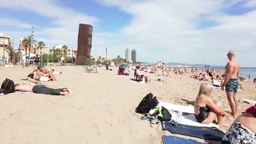
[[33,26],[32,24],[26,24],[24,22],[18,21],[17,19],[14,19],[14,18],[0,18],[0,25],[21,27],[21,28],[30,28]]

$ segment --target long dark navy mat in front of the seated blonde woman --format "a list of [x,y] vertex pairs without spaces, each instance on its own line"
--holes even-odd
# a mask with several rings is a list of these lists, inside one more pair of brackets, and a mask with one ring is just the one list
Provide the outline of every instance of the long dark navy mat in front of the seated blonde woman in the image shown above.
[[173,126],[171,122],[162,122],[162,130],[207,140],[221,140],[225,135],[222,131],[211,127],[187,126],[179,123],[176,126]]

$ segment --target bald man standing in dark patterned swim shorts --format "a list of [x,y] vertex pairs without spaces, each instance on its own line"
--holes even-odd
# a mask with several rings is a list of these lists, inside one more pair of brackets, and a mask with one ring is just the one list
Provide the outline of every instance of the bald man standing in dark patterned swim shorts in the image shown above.
[[235,60],[235,51],[229,50],[227,54],[229,62],[225,67],[225,80],[222,84],[222,90],[224,86],[226,87],[226,94],[229,100],[229,105],[232,110],[232,116],[237,117],[238,114],[238,100],[236,98],[236,93],[238,91],[238,74],[240,72],[240,64]]

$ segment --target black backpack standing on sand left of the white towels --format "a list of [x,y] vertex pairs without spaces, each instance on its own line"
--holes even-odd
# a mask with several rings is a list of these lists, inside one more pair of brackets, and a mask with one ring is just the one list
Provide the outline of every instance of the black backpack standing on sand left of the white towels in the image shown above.
[[146,94],[146,96],[140,101],[138,107],[136,107],[135,112],[139,114],[149,113],[149,110],[158,105],[158,100],[153,97],[152,93]]

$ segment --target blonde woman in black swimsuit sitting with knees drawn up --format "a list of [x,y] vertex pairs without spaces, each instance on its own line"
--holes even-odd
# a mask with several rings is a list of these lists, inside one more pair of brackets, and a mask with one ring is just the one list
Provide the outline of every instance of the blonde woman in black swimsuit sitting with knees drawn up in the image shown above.
[[211,85],[205,83],[200,85],[197,99],[194,103],[194,112],[197,122],[209,124],[217,118],[218,124],[225,125],[226,123],[222,119],[222,117],[225,116],[225,112],[222,110],[219,101],[212,101],[210,99],[211,91]]

